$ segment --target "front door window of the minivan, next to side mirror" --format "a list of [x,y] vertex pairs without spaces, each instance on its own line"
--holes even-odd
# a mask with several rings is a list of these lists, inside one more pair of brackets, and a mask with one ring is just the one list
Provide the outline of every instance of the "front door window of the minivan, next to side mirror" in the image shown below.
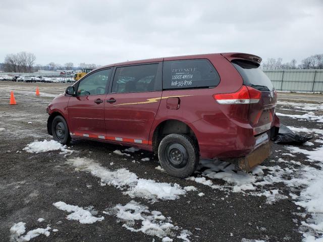
[[111,69],[94,72],[81,80],[78,89],[78,96],[98,95],[105,93],[105,86],[108,83]]

